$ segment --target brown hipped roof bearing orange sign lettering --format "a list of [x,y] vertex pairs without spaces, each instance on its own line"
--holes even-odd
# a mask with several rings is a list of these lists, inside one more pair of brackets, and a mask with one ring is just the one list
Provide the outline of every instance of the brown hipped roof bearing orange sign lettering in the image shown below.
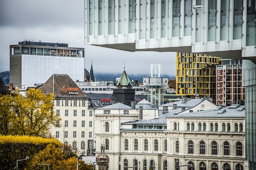
[[41,87],[44,94],[63,97],[86,97],[85,93],[67,74],[53,74]]

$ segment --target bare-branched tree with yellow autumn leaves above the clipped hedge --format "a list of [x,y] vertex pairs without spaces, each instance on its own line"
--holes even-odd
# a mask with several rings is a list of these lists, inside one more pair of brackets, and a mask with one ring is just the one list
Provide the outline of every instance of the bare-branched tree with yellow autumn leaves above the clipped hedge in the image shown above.
[[0,96],[0,134],[49,137],[60,117],[54,113],[54,95],[29,89]]

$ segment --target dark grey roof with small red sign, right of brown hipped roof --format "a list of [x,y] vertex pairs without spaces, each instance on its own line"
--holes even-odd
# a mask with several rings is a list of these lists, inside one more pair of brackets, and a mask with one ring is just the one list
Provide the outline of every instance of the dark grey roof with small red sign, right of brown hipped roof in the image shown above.
[[[94,107],[105,107],[119,103],[119,101],[112,94],[100,94],[100,93],[85,93],[90,98],[91,104]],[[110,99],[110,100],[104,100]]]

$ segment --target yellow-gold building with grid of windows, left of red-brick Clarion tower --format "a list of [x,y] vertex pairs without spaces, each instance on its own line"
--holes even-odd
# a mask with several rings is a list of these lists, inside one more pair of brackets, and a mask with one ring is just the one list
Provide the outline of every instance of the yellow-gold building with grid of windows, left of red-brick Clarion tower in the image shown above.
[[177,53],[176,94],[189,98],[216,99],[216,65],[219,57],[196,53]]

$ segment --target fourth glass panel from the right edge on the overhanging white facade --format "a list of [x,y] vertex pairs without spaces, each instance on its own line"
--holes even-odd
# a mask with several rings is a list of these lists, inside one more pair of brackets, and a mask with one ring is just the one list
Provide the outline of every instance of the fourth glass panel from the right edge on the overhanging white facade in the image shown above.
[[208,0],[208,42],[216,41],[216,0]]

